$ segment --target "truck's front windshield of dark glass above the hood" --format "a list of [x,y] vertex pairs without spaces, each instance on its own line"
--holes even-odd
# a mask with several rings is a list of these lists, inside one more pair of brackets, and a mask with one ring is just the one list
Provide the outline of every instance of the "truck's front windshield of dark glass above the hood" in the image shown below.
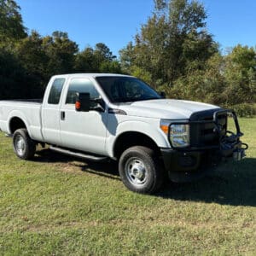
[[160,95],[143,81],[131,77],[97,77],[97,82],[111,102],[138,102],[160,99]]

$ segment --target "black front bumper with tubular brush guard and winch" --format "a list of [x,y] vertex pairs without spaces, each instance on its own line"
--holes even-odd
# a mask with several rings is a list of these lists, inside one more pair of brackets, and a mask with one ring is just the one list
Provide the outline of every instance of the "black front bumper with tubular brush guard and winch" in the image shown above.
[[[236,134],[219,131],[218,115],[231,113],[233,115]],[[211,121],[193,120],[189,123],[209,123]],[[222,160],[241,160],[248,148],[247,144],[241,143],[242,133],[238,125],[236,113],[221,110],[213,114],[213,124],[218,137],[215,145],[198,146],[190,148],[160,148],[162,160],[169,177],[174,182],[187,182],[203,176],[206,172],[219,165]]]

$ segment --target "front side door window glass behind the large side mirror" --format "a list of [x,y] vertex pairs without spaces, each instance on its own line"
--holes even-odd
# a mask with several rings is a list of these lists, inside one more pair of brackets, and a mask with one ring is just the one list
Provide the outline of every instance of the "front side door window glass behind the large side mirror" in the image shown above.
[[89,79],[72,79],[68,91],[66,104],[74,104],[78,100],[79,93],[90,93],[90,98],[95,99],[100,95]]

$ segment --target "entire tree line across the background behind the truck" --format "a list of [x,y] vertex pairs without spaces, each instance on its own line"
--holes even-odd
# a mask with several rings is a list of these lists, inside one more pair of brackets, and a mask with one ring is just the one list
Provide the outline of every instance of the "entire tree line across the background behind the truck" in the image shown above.
[[119,59],[103,43],[79,51],[67,32],[28,33],[15,0],[0,0],[0,99],[43,96],[50,76],[88,72],[131,74],[172,98],[241,113],[252,113],[256,102],[255,48],[238,44],[223,54],[197,0],[154,0]]

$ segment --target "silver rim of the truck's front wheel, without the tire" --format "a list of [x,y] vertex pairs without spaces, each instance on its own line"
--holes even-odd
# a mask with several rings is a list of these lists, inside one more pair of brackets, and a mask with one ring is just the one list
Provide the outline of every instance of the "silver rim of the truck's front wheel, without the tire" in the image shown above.
[[136,187],[143,186],[148,181],[148,170],[139,158],[130,158],[125,164],[125,175],[130,183]]

